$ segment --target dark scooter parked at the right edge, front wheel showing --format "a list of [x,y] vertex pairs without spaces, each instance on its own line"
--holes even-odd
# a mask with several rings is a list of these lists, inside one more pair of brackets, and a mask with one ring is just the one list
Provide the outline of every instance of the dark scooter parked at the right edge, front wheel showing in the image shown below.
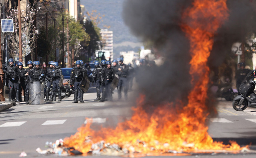
[[254,88],[256,82],[254,81],[253,71],[248,73],[244,82],[239,87],[240,94],[234,99],[232,106],[236,111],[243,111],[247,107],[256,106],[256,94],[254,93]]

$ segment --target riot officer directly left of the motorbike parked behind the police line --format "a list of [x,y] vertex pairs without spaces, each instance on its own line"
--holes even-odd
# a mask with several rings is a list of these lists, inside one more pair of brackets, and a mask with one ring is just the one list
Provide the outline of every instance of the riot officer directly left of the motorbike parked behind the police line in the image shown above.
[[[53,101],[53,96],[58,91],[58,102],[61,102],[61,87],[59,86],[59,82],[62,76],[62,71],[58,65],[58,62],[53,62],[53,69],[52,69],[52,94],[49,99],[50,102]],[[58,89],[58,90],[56,90]]]

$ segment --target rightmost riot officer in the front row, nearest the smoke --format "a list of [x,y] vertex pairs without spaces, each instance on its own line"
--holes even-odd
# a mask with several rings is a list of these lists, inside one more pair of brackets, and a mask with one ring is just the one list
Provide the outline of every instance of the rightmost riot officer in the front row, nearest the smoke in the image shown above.
[[123,63],[123,58],[118,58],[117,61],[119,62],[118,65],[118,71],[117,74],[119,76],[119,82],[117,85],[117,91],[118,91],[118,99],[122,98],[122,87],[124,88],[125,93],[125,99],[128,99],[127,93],[128,93],[128,66]]

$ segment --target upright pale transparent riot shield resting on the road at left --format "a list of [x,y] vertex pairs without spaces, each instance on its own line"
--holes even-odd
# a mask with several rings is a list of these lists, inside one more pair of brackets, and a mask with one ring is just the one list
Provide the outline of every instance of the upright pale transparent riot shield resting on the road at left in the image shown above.
[[29,105],[44,104],[44,82],[29,82]]

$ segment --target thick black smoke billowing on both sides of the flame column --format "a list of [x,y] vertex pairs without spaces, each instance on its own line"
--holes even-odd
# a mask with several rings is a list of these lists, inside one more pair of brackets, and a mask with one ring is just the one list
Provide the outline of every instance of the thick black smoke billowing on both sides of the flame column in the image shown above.
[[[186,102],[190,85],[189,41],[180,28],[183,11],[193,0],[127,0],[123,19],[131,32],[150,41],[163,65],[141,69],[137,73],[138,88],[148,103],[158,105],[176,99]],[[230,56],[233,42],[241,41],[256,30],[254,0],[227,0],[229,19],[214,39],[209,67],[217,68]],[[256,14],[255,14],[256,15]],[[207,20],[204,23],[209,23]]]

